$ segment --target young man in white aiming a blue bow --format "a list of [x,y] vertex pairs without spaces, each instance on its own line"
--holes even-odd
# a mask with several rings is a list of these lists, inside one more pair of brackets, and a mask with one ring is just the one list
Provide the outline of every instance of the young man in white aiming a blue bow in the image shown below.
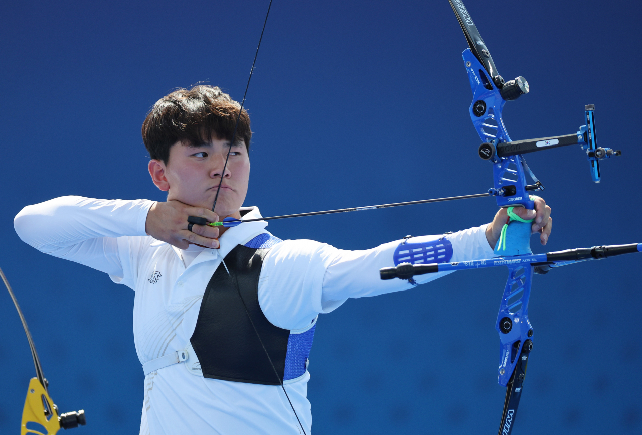
[[[381,267],[492,257],[507,218],[499,210],[481,227],[367,251],[282,241],[260,220],[227,229],[188,225],[189,216],[261,217],[256,207],[241,208],[252,132],[243,111],[231,143],[239,108],[204,85],[154,105],[143,141],[166,202],[61,197],[28,206],[14,220],[36,249],[135,290],[134,340],[146,374],[141,434],[310,434],[307,368],[318,314],[348,297],[412,288],[381,281]],[[546,244],[550,208],[542,199],[535,205],[517,213],[535,219],[532,231]]]

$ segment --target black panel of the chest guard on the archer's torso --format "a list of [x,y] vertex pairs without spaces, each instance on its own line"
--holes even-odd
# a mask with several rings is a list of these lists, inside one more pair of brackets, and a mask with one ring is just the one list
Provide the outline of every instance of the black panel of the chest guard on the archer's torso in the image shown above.
[[203,377],[281,385],[290,330],[268,321],[258,296],[259,275],[268,251],[237,245],[223,260],[229,274],[221,263],[207,284],[196,328],[189,339]]

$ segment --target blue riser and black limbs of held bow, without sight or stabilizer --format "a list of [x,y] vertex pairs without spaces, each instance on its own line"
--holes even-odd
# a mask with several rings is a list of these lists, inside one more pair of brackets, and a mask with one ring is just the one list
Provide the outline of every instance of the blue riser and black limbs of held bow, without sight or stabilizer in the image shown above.
[[[501,118],[501,112],[507,100],[514,100],[520,94],[528,92],[528,84],[523,77],[512,80],[510,85],[505,84],[501,76],[498,75],[494,64],[492,71],[480,62],[482,59],[488,59],[492,63],[492,57],[488,49],[478,49],[478,45],[483,44],[481,35],[474,26],[472,19],[470,23],[462,23],[462,18],[470,17],[467,10],[462,9],[464,4],[460,0],[455,0],[457,8],[453,9],[462,25],[464,34],[467,37],[470,48],[465,49],[462,53],[464,66],[468,73],[471,90],[473,91],[473,102],[469,107],[469,114],[475,130],[482,139],[482,144],[489,145],[492,154],[487,154],[487,159],[492,163],[493,185],[489,193],[496,195],[497,205],[501,208],[514,206],[523,206],[527,209],[534,209],[535,202],[530,199],[528,184],[526,183],[526,171],[533,178],[535,185],[528,186],[530,190],[534,188],[543,188],[535,178],[526,161],[521,154],[499,156],[494,152],[501,143],[510,143],[510,137]],[[457,10],[459,9],[459,11]],[[466,12],[464,17],[462,13]],[[471,38],[475,35],[473,38]],[[471,39],[474,42],[471,44]],[[476,53],[473,53],[473,50]],[[517,89],[517,82],[519,88]],[[480,146],[480,156],[482,147]],[[509,209],[510,211],[510,209]],[[517,224],[517,225],[516,225]],[[521,224],[514,222],[512,226],[514,233],[511,245],[507,252],[516,254],[530,254],[530,224]],[[521,242],[518,242],[521,240]],[[506,240],[504,241],[506,244]],[[496,253],[498,247],[496,247]],[[510,435],[512,432],[512,422],[516,416],[517,406],[521,398],[521,386],[525,378],[526,362],[528,353],[532,349],[531,337],[533,329],[528,321],[528,298],[533,278],[533,268],[528,265],[509,264],[508,280],[504,288],[495,328],[499,333],[499,367],[498,382],[499,385],[507,387],[506,399],[502,413],[499,434]],[[519,368],[519,370],[517,369]],[[519,371],[519,373],[517,373]]]

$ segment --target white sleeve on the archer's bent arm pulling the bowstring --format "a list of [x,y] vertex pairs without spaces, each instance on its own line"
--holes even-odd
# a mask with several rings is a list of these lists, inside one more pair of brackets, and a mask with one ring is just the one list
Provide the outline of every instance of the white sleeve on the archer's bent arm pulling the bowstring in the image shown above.
[[13,227],[23,242],[42,253],[92,267],[112,278],[124,278],[123,267],[128,268],[132,254],[125,251],[136,244],[119,243],[118,238],[146,236],[145,221],[153,203],[60,197],[26,206],[13,219]]

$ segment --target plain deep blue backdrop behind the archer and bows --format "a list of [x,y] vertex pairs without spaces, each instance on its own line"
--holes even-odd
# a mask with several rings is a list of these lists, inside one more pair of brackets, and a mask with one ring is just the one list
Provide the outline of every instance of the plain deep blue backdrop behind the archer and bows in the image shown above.
[[[243,96],[267,1],[25,1],[0,17],[0,265],[50,392],[84,408],[81,434],[137,434],[143,371],[132,290],[23,244],[12,219],[61,195],[163,200],[140,129],[171,89],[207,81]],[[466,2],[499,72],[512,139],[570,134],[596,105],[600,144],[623,150],[594,184],[578,147],[529,155],[555,229],[546,251],[642,242],[638,2]],[[469,119],[467,44],[447,1],[275,0],[246,107],[263,215],[487,190]],[[281,220],[281,238],[366,249],[488,222],[492,199]],[[544,248],[533,239],[535,252]],[[535,328],[515,434],[640,431],[639,256],[536,276]],[[311,354],[316,434],[495,433],[494,321],[502,268],[349,300],[324,315]],[[0,432],[17,433],[33,364],[0,291]]]

